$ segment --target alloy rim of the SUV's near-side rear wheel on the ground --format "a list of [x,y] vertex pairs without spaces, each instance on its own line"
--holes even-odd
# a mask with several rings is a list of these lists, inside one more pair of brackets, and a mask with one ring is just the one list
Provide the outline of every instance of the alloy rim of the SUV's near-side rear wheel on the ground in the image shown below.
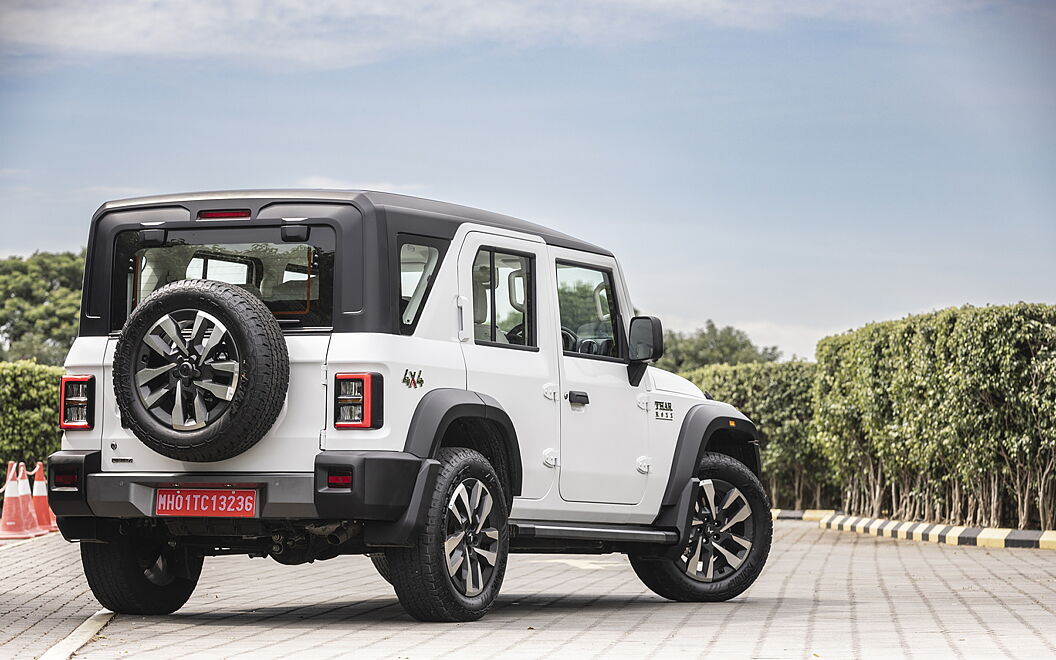
[[498,557],[495,501],[476,478],[460,483],[451,494],[447,511],[444,551],[448,574],[464,596],[477,596],[491,581]]

